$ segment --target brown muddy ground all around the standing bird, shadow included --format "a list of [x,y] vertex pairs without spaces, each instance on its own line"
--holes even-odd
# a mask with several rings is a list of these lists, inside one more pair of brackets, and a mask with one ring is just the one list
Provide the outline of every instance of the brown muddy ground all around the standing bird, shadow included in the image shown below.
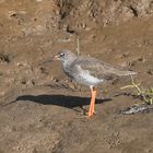
[[[79,44],[78,44],[79,42]],[[0,0],[0,153],[152,153],[153,111],[121,115],[142,101],[98,87],[96,115],[83,116],[90,90],[71,82],[61,49],[80,50],[138,72],[153,86],[152,1]]]

